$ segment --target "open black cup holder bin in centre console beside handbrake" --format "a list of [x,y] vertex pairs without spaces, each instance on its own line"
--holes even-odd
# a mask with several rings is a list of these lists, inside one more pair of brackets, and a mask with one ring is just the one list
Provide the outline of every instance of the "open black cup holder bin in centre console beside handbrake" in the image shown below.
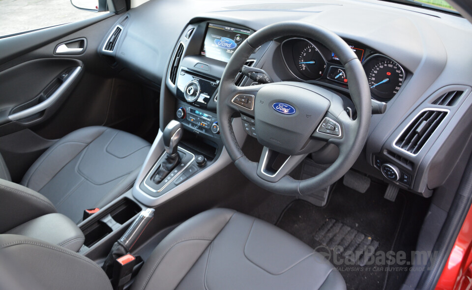
[[141,211],[141,206],[128,198],[123,198],[109,208],[100,210],[89,218],[87,224],[81,226],[85,235],[84,245],[91,247],[122,224],[134,218]]

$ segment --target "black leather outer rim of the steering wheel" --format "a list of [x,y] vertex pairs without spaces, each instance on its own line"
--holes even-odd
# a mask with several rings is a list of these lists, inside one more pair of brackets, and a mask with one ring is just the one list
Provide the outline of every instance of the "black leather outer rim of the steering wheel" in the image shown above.
[[[355,120],[351,120],[344,110],[344,114],[341,112],[337,116],[338,120],[343,121],[345,134],[342,139],[328,140],[329,143],[333,143],[339,147],[340,153],[336,161],[323,173],[305,180],[295,180],[285,175],[276,182],[270,182],[264,180],[257,174],[259,163],[247,159],[237,144],[231,123],[232,118],[240,112],[235,109],[234,104],[232,104],[232,99],[235,97],[236,93],[245,92],[250,89],[250,87],[238,88],[234,81],[245,61],[254,50],[267,41],[284,36],[299,36],[314,39],[336,54],[346,69],[346,75],[349,79],[349,90],[357,110],[357,117]],[[266,86],[276,84],[279,83]],[[258,98],[256,94],[254,102],[256,103],[257,101]],[[314,24],[298,21],[280,22],[258,30],[241,43],[240,47],[236,50],[233,57],[228,62],[220,81],[217,112],[222,142],[242,174],[260,187],[275,193],[306,195],[333,184],[348,172],[360,155],[367,139],[371,119],[370,88],[361,62],[341,37]]]

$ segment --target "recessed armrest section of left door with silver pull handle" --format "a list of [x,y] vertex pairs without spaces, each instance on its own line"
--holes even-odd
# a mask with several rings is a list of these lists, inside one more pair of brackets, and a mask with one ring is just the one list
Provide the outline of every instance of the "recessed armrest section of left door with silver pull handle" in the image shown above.
[[76,59],[41,58],[0,72],[0,124],[6,124],[0,136],[12,130],[8,123],[27,127],[52,116],[77,85],[82,66]]

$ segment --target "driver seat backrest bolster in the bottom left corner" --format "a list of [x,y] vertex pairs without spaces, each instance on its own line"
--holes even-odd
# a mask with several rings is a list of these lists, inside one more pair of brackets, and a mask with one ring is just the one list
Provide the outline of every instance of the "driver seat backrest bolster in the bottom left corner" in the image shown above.
[[[22,273],[27,277],[15,289],[111,290],[112,285],[95,262],[44,241],[16,234],[0,234],[0,264],[11,273],[0,274],[0,289]],[[12,275],[12,276],[10,276]],[[8,281],[10,279],[10,281]],[[32,283],[32,285],[28,285]]]

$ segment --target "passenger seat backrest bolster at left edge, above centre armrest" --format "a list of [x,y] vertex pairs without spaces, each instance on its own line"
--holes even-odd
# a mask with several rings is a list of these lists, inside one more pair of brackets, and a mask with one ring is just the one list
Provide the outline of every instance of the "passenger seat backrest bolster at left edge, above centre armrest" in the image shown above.
[[0,233],[39,216],[57,212],[42,194],[3,179],[0,179],[0,201]]

